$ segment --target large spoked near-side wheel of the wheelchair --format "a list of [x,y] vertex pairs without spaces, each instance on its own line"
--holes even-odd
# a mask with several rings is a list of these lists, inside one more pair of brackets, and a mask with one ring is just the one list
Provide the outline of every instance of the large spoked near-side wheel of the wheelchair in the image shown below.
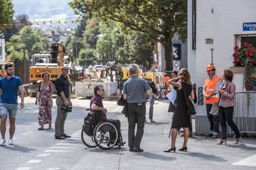
[[101,149],[110,149],[117,143],[117,128],[112,123],[101,122],[96,126],[93,136],[98,147]]

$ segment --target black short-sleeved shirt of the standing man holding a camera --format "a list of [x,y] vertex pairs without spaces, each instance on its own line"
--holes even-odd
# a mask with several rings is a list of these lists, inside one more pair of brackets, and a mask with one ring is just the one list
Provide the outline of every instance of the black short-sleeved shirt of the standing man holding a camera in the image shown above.
[[70,81],[68,81],[68,77],[65,77],[63,74],[61,74],[56,80],[55,80],[55,89],[57,91],[57,95],[60,96],[61,91],[65,94],[66,98],[69,98],[70,96]]

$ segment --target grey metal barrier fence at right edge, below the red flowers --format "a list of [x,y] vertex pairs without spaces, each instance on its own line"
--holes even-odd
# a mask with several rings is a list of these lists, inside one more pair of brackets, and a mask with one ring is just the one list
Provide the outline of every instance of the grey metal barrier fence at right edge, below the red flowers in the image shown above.
[[[241,133],[256,133],[256,91],[235,94],[234,121]],[[233,133],[232,130],[230,130]]]

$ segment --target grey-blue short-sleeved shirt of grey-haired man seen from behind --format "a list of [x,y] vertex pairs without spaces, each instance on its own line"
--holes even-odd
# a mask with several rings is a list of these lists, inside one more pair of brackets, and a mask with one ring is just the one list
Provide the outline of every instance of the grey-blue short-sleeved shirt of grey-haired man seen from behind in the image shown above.
[[145,103],[145,91],[149,89],[149,84],[144,79],[134,76],[124,82],[123,92],[127,94],[127,103]]

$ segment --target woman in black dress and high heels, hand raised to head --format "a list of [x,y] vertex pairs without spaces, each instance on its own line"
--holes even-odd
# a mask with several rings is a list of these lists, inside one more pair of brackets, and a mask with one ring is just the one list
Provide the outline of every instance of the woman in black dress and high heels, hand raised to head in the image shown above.
[[[178,81],[177,81],[178,80]],[[186,147],[186,144],[188,142],[188,135],[189,135],[189,126],[190,126],[190,120],[189,116],[186,113],[187,105],[186,105],[186,96],[188,96],[188,100],[193,100],[194,94],[193,94],[193,88],[191,84],[191,76],[187,69],[181,69],[178,72],[178,77],[174,79],[169,80],[169,84],[176,86],[177,89],[177,98],[176,98],[176,110],[175,114],[171,123],[171,148],[165,150],[164,152],[171,152],[176,151],[175,143],[176,143],[176,137],[177,137],[177,131],[180,128],[183,128],[184,131],[184,141],[183,146],[181,149],[178,149],[179,151],[186,151],[188,147]],[[186,89],[186,90],[184,90]],[[186,95],[185,95],[186,91]]]

